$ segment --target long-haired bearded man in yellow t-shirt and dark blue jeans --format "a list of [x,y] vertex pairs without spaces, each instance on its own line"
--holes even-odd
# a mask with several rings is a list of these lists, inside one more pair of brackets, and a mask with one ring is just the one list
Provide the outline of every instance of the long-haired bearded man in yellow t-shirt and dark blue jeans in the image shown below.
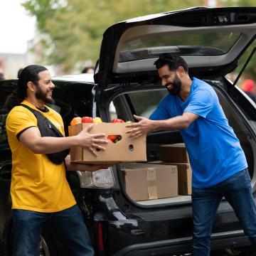
[[[83,146],[97,156],[105,134],[90,134],[92,127],[74,137],[64,137],[60,114],[46,107],[53,103],[53,82],[50,73],[41,65],[28,65],[18,78],[18,88],[6,100],[10,110],[6,132],[12,152],[11,199],[14,210],[12,255],[38,255],[41,228],[50,222],[61,235],[70,255],[94,255],[90,236],[65,178],[65,166],[54,164],[46,154]],[[19,104],[37,110],[54,124],[63,137],[41,137],[35,115]],[[70,171],[95,171],[103,165],[70,164]]]

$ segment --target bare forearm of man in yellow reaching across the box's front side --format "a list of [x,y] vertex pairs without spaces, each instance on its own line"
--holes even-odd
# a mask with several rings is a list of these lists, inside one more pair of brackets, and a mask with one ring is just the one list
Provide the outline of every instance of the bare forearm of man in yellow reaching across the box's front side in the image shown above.
[[78,146],[78,137],[40,137],[33,145],[36,154],[50,154]]

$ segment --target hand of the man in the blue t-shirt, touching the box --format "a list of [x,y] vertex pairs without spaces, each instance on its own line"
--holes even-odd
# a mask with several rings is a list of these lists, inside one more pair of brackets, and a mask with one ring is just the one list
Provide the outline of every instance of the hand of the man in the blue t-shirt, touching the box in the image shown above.
[[144,134],[149,134],[152,132],[155,127],[155,122],[153,120],[149,120],[146,117],[139,117],[134,114],[134,118],[139,120],[137,123],[133,124],[127,124],[126,127],[132,128],[129,131],[127,131],[127,134],[129,134],[130,138],[137,139],[138,137],[144,135]]

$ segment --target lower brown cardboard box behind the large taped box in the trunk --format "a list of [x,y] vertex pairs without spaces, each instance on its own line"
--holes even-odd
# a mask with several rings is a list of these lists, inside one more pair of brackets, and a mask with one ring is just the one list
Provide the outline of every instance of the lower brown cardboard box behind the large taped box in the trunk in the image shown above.
[[177,166],[178,168],[178,194],[191,195],[192,193],[192,169],[189,163],[166,163],[163,161],[153,161],[151,164],[164,164]]

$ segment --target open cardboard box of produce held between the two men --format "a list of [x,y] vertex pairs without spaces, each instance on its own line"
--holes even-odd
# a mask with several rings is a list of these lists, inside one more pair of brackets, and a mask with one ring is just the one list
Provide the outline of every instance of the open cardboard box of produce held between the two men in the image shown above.
[[[90,124],[75,124],[68,127],[69,136],[74,136],[85,129]],[[120,135],[122,139],[117,143],[109,142],[102,144],[105,151],[98,151],[98,156],[94,156],[88,149],[82,146],[74,146],[70,149],[71,161],[77,163],[113,163],[126,161],[146,161],[146,135],[138,139],[131,139],[126,132],[130,129],[126,123],[100,123],[94,124],[90,130],[91,134],[105,133],[108,135]]]

